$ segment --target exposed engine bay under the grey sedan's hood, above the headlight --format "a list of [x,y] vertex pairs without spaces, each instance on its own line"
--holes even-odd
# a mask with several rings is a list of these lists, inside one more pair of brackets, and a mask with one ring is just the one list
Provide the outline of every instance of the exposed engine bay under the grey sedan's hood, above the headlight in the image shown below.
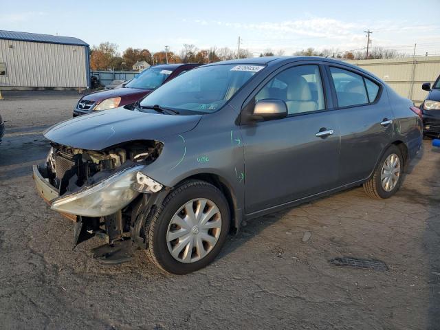
[[47,178],[60,196],[100,181],[113,171],[135,164],[148,165],[159,157],[162,143],[139,141],[104,151],[87,151],[52,142],[47,156]]

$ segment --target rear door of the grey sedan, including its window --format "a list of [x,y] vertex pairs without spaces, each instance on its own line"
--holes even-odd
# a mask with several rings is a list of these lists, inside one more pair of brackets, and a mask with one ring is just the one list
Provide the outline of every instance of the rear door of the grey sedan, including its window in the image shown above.
[[340,126],[340,186],[369,177],[393,135],[393,111],[380,82],[347,67],[328,67]]

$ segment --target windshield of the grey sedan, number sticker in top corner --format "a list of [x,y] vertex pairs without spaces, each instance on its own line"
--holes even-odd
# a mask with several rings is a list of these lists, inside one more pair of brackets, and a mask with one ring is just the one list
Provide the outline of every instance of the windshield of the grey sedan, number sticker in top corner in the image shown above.
[[238,91],[263,65],[210,65],[177,76],[142,100],[141,106],[211,113]]

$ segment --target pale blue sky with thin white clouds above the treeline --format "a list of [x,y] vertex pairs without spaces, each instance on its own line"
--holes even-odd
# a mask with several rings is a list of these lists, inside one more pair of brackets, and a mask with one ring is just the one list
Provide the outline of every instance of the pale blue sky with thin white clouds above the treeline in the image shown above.
[[[161,4],[162,3],[162,4]],[[1,0],[0,30],[110,41],[153,52],[170,45],[270,48],[289,55],[314,47],[345,51],[372,45],[440,54],[440,0],[423,1],[10,1]]]

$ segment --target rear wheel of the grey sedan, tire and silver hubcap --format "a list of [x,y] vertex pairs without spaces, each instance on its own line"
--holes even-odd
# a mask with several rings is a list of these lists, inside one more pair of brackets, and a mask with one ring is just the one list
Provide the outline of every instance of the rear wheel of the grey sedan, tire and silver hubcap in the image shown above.
[[386,149],[375,168],[373,176],[364,183],[366,195],[375,199],[385,199],[393,196],[401,185],[404,168],[400,149],[392,145]]

